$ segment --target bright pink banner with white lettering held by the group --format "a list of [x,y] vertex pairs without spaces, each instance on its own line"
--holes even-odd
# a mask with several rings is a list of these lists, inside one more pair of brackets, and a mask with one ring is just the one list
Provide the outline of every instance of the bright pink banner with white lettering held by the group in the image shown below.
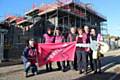
[[73,61],[76,42],[37,44],[39,66],[57,61]]

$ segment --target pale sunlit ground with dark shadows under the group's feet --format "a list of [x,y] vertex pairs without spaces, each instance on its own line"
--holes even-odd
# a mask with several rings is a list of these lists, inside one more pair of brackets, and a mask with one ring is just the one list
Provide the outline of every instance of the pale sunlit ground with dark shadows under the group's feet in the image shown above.
[[57,71],[56,63],[54,71],[46,72],[45,66],[39,68],[39,74],[25,78],[22,64],[0,67],[0,80],[120,80],[120,49],[111,50],[104,54],[102,59],[102,73],[88,75],[79,74],[78,71]]

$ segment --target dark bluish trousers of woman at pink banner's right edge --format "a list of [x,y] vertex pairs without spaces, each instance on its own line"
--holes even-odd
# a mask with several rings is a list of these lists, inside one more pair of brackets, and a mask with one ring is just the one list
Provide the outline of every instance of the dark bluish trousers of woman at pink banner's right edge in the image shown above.
[[82,69],[84,69],[84,71],[87,71],[87,53],[81,50],[77,50],[76,55],[78,70],[82,71]]

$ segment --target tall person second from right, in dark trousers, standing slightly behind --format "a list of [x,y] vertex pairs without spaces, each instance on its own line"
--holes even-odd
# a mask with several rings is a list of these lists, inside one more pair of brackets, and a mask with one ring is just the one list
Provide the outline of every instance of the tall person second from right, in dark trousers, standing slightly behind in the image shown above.
[[[89,27],[88,26],[84,26],[84,33],[86,35],[86,43],[90,43],[90,31],[89,31]],[[94,67],[93,67],[93,57],[92,57],[92,50],[90,48],[86,48],[86,59],[87,59],[87,69],[88,69],[88,58],[90,59],[90,68],[93,71]]]

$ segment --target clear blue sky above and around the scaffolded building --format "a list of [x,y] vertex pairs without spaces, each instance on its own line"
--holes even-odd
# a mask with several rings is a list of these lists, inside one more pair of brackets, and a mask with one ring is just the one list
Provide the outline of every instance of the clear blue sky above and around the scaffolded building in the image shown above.
[[[0,20],[6,15],[22,16],[32,8],[32,4],[40,6],[41,3],[50,3],[55,0],[0,0]],[[91,3],[92,7],[107,17],[108,32],[120,35],[120,0],[80,0]]]

